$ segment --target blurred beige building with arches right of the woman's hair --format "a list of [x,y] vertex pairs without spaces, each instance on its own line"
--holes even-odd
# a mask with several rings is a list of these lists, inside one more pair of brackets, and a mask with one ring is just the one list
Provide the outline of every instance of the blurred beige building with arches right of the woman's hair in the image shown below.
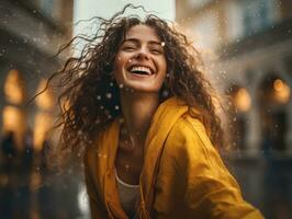
[[231,96],[233,142],[246,154],[292,152],[292,1],[177,0],[176,21]]

